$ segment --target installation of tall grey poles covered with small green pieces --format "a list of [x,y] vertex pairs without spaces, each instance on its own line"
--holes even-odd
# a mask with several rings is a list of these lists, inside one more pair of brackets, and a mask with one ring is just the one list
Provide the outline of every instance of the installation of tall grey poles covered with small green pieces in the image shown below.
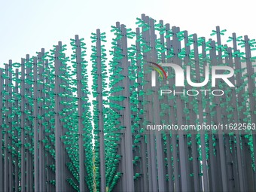
[[[219,27],[206,40],[145,14],[136,24],[112,26],[109,53],[98,29],[91,51],[75,35],[71,57],[59,42],[0,69],[0,191],[256,190],[254,39],[222,44]],[[194,83],[228,66],[235,87],[184,90],[160,63],[190,66]]]

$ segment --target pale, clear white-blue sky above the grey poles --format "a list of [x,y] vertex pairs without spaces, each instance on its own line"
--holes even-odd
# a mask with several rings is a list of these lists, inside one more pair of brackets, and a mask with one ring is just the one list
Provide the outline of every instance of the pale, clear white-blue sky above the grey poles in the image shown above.
[[226,35],[253,39],[255,5],[253,0],[0,0],[0,66],[42,47],[49,50],[58,41],[69,44],[76,34],[87,39],[98,28],[109,32],[117,21],[135,29],[141,14],[206,38],[221,26]]

